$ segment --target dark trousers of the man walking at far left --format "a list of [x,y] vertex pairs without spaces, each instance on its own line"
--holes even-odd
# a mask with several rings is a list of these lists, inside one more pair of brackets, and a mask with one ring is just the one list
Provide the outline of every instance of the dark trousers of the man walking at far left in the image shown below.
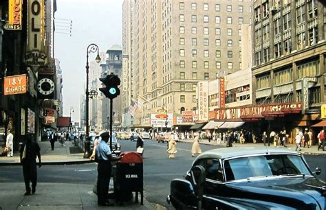
[[30,192],[30,182],[32,189],[35,189],[37,182],[36,160],[26,159],[23,161],[23,176],[26,192]]

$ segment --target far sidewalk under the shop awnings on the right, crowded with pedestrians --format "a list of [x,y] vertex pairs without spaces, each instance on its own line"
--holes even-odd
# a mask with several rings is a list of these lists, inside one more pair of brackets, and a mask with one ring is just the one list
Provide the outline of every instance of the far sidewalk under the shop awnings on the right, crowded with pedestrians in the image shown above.
[[[188,140],[179,140],[180,142],[187,142],[187,143],[193,143],[193,139],[188,139]],[[207,144],[207,145],[217,145],[217,141],[208,141],[208,139],[201,139],[199,141],[200,144]],[[267,144],[266,144],[267,145]],[[223,141],[221,141],[221,145],[219,145],[221,147],[226,147],[226,143],[224,143]],[[263,147],[263,143],[232,143],[232,147],[235,148],[243,148],[243,147]],[[270,148],[274,148],[274,145],[270,144]],[[279,146],[279,148],[284,148],[283,146]],[[296,150],[296,144],[292,143],[292,144],[287,144],[287,148],[290,150]],[[325,147],[326,148],[326,147]],[[319,150],[318,151],[318,145],[312,145],[312,147],[310,148],[301,148],[300,152],[301,154],[313,154],[313,155],[326,155],[326,151],[323,150]]]

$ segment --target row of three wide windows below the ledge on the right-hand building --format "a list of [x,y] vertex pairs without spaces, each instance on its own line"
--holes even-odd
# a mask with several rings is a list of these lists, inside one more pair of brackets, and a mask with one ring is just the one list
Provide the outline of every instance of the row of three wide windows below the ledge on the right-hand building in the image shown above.
[[[320,75],[319,60],[298,64],[296,67],[297,78],[315,77]],[[256,79],[257,89],[270,88],[270,74],[260,75]],[[292,67],[274,72],[274,84],[285,84],[293,81]]]

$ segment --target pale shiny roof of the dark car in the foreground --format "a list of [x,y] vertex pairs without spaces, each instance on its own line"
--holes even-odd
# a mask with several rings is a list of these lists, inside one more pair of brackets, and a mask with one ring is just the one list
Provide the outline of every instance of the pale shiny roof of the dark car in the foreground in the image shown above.
[[295,152],[289,148],[265,148],[263,146],[241,147],[241,148],[232,147],[232,148],[219,148],[219,149],[208,150],[200,154],[197,157],[197,159],[204,159],[204,158],[228,159],[236,156],[272,154],[272,153],[298,154],[298,152]]

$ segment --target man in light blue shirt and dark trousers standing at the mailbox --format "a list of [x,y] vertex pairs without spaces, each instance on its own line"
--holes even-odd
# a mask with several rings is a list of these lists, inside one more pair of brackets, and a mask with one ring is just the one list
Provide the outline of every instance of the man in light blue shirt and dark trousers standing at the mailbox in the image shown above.
[[109,132],[103,132],[101,141],[96,148],[96,161],[98,162],[98,205],[99,206],[112,206],[113,203],[109,202],[109,183],[111,178],[111,161],[118,161],[121,157],[114,158],[111,154],[109,145]]

